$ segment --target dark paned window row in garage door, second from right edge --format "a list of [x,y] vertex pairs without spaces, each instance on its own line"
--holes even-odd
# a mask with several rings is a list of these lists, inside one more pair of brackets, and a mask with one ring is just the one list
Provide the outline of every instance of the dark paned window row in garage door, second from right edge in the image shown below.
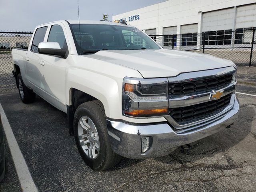
[[[232,29],[207,31],[205,33],[205,45],[230,45],[232,39]],[[202,44],[203,44],[202,37]]]

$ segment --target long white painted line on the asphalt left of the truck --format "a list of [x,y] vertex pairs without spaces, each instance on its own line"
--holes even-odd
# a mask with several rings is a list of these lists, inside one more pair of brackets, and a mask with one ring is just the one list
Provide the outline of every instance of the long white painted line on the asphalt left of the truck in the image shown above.
[[20,151],[16,138],[12,132],[12,128],[8,122],[4,109],[0,103],[0,114],[2,119],[2,124],[4,127],[4,132],[12,154],[12,160],[14,162],[16,172],[18,174],[21,188],[24,192],[38,192],[36,185],[30,175],[28,166],[24,160],[24,157]]

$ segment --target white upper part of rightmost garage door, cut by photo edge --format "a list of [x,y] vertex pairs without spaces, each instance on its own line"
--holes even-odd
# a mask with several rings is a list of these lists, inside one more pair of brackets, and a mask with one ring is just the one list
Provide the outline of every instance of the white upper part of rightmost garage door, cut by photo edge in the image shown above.
[[256,4],[239,6],[236,13],[236,29],[256,27]]

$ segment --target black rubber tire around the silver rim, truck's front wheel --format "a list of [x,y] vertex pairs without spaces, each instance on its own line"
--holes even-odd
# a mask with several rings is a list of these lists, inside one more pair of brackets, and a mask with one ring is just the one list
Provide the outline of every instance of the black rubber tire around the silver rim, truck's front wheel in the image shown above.
[[[100,152],[95,159],[89,158],[80,145],[80,140],[78,138],[78,122],[82,116],[89,117],[98,132]],[[100,101],[89,101],[78,106],[74,114],[74,135],[82,159],[93,170],[107,170],[115,166],[121,160],[122,157],[114,153],[111,148],[110,140],[108,138],[105,111],[103,104]]]

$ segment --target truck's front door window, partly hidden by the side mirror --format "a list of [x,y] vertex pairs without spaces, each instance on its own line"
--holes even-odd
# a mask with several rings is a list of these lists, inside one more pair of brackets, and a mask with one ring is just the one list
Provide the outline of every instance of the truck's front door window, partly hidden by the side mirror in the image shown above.
[[64,47],[65,41],[65,35],[63,32],[63,29],[60,25],[53,25],[51,27],[49,36],[48,36],[48,42],[57,42],[60,44],[60,48]]

